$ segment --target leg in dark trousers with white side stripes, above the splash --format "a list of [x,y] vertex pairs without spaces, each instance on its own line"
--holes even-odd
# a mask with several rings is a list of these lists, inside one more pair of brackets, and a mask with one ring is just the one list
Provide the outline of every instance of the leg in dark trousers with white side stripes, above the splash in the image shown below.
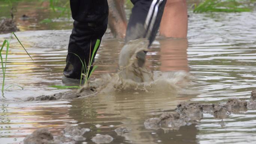
[[134,4],[125,41],[146,38],[155,40],[167,0],[131,0]]

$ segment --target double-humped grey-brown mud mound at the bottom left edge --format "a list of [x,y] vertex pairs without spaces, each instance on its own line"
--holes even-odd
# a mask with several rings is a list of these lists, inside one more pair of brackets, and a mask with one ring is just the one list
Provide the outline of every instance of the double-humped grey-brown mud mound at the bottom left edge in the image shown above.
[[67,126],[63,130],[63,134],[53,137],[48,129],[37,129],[31,135],[24,139],[24,144],[75,144],[76,141],[86,140],[83,137],[85,132],[89,132],[88,128],[80,128],[79,126]]

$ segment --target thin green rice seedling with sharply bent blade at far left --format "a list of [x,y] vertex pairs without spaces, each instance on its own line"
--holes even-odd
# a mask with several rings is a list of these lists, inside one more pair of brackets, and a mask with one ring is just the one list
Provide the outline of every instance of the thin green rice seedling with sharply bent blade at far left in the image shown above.
[[[10,41],[12,39],[12,35],[15,36],[15,38],[18,40],[19,44],[22,46],[22,48],[25,50],[25,52],[28,54],[27,50],[24,48],[24,46],[22,45],[22,43],[19,41],[18,37],[16,36],[15,33],[11,33],[10,39],[8,40],[4,40],[4,42],[2,43],[1,49],[0,49],[0,59],[1,59],[1,69],[3,71],[3,83],[2,83],[2,88],[1,88],[1,92],[3,95],[3,91],[4,91],[4,80],[5,80],[5,76],[6,76],[6,63],[7,63],[7,57],[8,57],[8,53],[9,53],[9,46],[10,46]],[[2,56],[2,51],[4,46],[6,46],[6,53],[5,53],[5,60],[3,61],[3,56]],[[28,56],[30,56],[30,54],[28,54]],[[30,58],[32,59],[32,57],[30,56]],[[33,60],[33,59],[32,59]],[[34,61],[34,60],[33,60]],[[8,88],[12,87],[12,86],[18,86],[18,85],[10,85]],[[21,86],[18,86],[20,88],[22,88]],[[8,89],[6,88],[6,89]],[[22,88],[24,89],[24,88]]]

